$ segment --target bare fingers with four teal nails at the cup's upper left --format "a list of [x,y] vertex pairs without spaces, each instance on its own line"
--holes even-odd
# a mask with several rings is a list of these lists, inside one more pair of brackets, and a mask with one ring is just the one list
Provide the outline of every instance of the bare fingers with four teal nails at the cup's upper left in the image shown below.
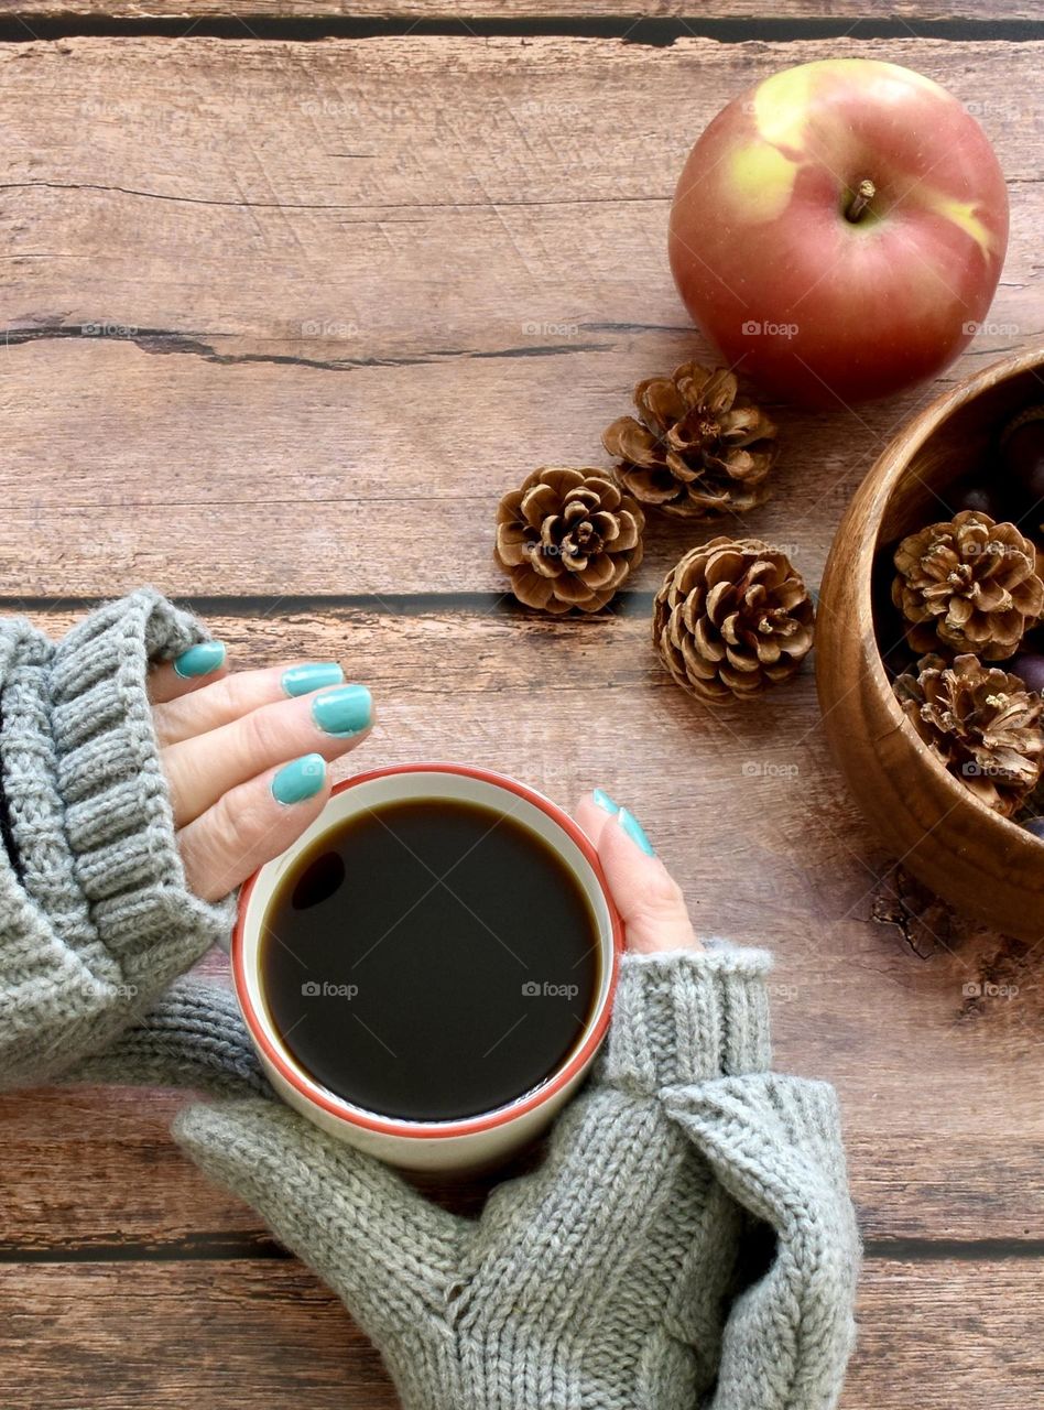
[[335,663],[228,674],[220,642],[156,667],[149,699],[186,878],[204,901],[304,832],[330,795],[327,764],[373,723],[369,691]]

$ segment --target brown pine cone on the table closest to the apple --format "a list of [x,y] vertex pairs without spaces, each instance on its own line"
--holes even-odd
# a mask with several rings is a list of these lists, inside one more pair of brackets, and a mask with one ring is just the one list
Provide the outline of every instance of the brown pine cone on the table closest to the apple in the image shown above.
[[644,505],[682,519],[745,513],[768,498],[776,429],[751,402],[737,400],[724,368],[685,362],[673,376],[638,382],[641,422],[621,416],[602,444],[620,460],[624,486]]

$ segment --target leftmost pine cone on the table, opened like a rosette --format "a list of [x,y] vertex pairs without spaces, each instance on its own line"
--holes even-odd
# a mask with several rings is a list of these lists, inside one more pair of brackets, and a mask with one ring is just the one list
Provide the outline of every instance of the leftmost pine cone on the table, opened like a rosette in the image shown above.
[[534,470],[497,509],[496,560],[545,612],[597,612],[641,563],[645,516],[604,470]]

